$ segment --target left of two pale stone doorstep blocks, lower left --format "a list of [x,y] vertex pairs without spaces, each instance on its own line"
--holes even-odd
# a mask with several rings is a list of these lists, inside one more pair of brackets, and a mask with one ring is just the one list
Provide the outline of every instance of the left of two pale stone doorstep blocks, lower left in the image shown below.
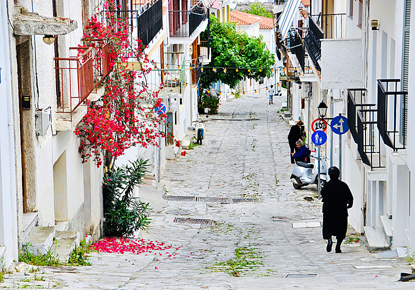
[[24,244],[33,253],[45,254],[53,243],[55,236],[54,226],[35,226],[30,231]]

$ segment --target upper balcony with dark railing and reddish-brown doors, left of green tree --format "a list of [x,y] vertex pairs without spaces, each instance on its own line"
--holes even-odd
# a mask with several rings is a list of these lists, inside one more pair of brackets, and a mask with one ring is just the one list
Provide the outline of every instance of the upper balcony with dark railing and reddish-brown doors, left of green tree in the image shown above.
[[200,23],[208,18],[202,2],[198,2],[189,10],[168,11],[171,37],[190,37]]

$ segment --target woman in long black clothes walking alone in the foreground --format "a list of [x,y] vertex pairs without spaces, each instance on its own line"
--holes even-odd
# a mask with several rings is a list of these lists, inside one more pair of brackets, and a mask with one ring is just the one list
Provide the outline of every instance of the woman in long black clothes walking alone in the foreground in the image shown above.
[[333,241],[331,236],[337,239],[335,252],[340,253],[340,245],[346,237],[347,208],[353,205],[353,196],[347,184],[338,180],[340,170],[333,166],[328,168],[328,181],[321,189],[323,202],[323,238],[327,240],[327,251],[331,251]]

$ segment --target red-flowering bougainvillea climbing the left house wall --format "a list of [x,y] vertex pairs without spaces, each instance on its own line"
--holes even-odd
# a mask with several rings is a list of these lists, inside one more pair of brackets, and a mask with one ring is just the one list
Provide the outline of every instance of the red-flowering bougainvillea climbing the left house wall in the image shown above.
[[158,93],[164,84],[149,87],[147,75],[154,62],[144,53],[140,39],[131,37],[128,15],[116,10],[119,7],[114,0],[104,0],[102,7],[85,25],[83,42],[88,46],[109,43],[106,54],[95,52],[94,63],[100,65],[100,59],[107,57],[112,71],[104,83],[101,100],[88,103],[87,113],[74,133],[80,138],[82,161],[91,158],[97,167],[103,162],[112,171],[115,159],[126,148],[158,146],[158,137],[164,137],[158,130],[159,124],[165,121],[166,115],[154,112],[160,105]]

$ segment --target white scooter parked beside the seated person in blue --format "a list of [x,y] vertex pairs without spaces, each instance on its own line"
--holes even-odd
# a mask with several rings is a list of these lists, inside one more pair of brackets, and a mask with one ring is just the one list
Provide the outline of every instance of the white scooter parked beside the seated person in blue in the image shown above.
[[[292,169],[290,180],[295,189],[300,189],[308,184],[317,184],[318,182],[318,157],[310,155],[314,159],[314,164],[306,162],[295,162],[296,166]],[[315,165],[315,166],[314,166]],[[313,170],[313,168],[315,169]],[[327,182],[327,163],[325,157],[320,157],[320,186],[324,187]]]

